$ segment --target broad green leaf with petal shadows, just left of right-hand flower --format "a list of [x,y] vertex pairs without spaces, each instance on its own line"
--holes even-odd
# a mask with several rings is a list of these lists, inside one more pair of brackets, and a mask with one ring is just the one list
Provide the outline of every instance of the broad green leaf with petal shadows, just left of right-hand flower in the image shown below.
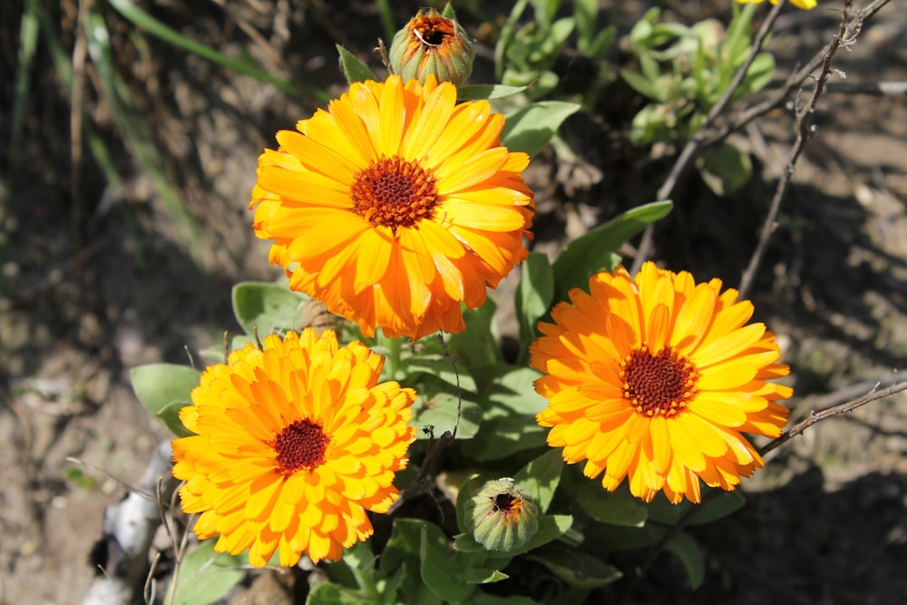
[[477,403],[484,412],[467,454],[482,462],[543,446],[548,429],[535,422],[535,415],[545,409],[548,401],[532,387],[541,373],[531,367],[507,364],[473,371],[478,385]]

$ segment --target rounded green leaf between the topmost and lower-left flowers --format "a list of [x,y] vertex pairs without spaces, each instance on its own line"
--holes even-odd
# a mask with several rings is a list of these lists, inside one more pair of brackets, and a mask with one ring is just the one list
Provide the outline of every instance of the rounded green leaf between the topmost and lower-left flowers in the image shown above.
[[233,287],[233,313],[239,325],[259,337],[296,328],[300,307],[307,298],[286,286],[259,281],[242,281]]

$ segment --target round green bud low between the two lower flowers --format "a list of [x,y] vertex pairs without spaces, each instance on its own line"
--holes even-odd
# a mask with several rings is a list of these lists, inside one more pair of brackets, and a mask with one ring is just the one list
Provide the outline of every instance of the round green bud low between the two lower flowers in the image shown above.
[[489,551],[520,548],[539,529],[539,510],[512,479],[485,483],[466,503],[466,530]]

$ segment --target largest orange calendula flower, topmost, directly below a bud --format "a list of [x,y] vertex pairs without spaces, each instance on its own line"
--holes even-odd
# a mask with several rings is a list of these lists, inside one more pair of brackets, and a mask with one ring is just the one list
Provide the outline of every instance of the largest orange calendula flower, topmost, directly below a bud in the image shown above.
[[258,159],[256,235],[290,288],[366,336],[460,332],[461,301],[481,306],[527,255],[529,157],[501,146],[503,123],[434,76],[354,83]]

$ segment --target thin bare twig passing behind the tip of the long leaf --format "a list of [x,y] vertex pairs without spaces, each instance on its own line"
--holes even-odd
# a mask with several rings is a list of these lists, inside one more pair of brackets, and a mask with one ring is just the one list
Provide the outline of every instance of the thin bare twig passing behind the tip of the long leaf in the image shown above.
[[[721,95],[721,98],[718,99],[715,105],[712,106],[711,111],[708,112],[706,122],[703,123],[696,134],[693,135],[693,138],[690,139],[687,144],[684,145],[683,150],[680,151],[677,161],[674,162],[674,166],[668,173],[668,178],[665,179],[664,183],[662,183],[661,187],[658,189],[658,193],[655,194],[656,200],[668,200],[671,197],[674,188],[677,187],[680,176],[688,169],[690,162],[696,158],[697,152],[706,141],[712,124],[714,124],[718,116],[725,111],[727,104],[731,101],[737,88],[740,87],[740,84],[743,83],[744,78],[746,78],[746,72],[749,71],[750,66],[756,61],[756,55],[762,51],[762,44],[765,43],[766,37],[769,32],[772,31],[772,27],[775,26],[775,21],[777,20],[778,15],[781,15],[781,9],[784,8],[785,4],[786,0],[779,0],[776,5],[772,6],[772,10],[769,11],[766,20],[762,23],[762,26],[759,27],[758,33],[756,33],[756,39],[753,41],[753,46],[749,51],[749,55],[746,57],[746,61],[740,65],[740,68],[734,74],[734,79],[731,80],[731,83],[727,86],[727,90]],[[630,270],[631,275],[636,275],[639,272],[639,268],[642,267],[642,263],[649,258],[649,254],[652,252],[652,234],[654,230],[655,224],[649,223],[645,233],[643,233],[642,240],[639,242],[639,250],[637,251],[636,258],[633,259],[633,267]]]

